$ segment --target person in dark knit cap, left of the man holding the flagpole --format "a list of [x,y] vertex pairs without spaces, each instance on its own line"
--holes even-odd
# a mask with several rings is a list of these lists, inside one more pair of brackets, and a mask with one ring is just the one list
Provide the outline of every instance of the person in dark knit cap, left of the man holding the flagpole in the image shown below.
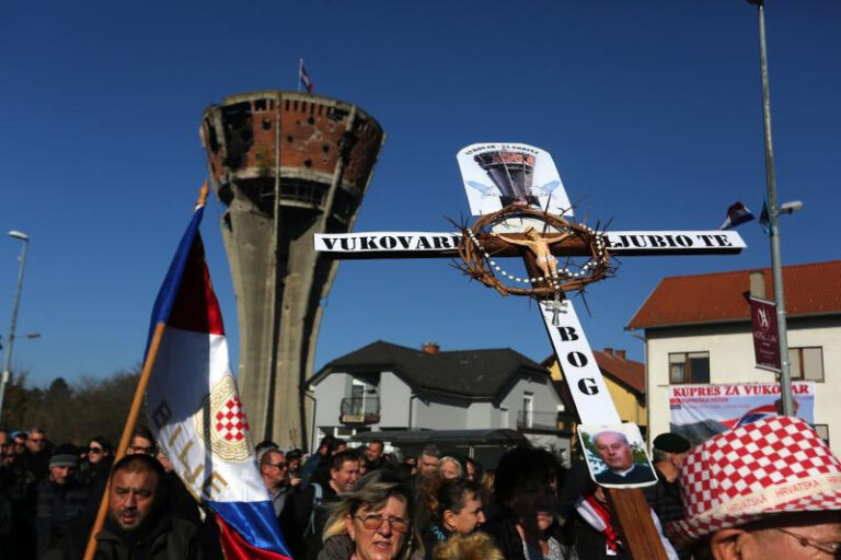
[[73,474],[79,464],[74,445],[59,445],[49,457],[48,474],[38,482],[35,497],[36,558],[57,545],[88,508],[88,489]]

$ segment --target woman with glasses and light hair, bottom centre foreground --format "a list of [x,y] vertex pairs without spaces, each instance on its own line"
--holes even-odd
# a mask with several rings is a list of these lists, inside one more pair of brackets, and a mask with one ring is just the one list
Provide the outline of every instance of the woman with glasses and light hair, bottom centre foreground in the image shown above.
[[419,546],[411,512],[404,479],[389,470],[369,472],[331,504],[319,560],[407,560]]

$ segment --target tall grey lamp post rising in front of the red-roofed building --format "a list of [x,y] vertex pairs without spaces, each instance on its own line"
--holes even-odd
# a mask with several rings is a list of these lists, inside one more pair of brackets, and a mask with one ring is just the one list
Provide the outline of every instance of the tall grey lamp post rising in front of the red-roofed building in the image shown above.
[[768,52],[765,50],[765,7],[763,0],[748,0],[757,4],[759,13],[759,66],[762,74],[762,117],[765,129],[765,182],[768,183],[768,217],[771,237],[771,269],[774,279],[774,303],[780,340],[780,390],[783,397],[783,415],[794,416],[792,373],[788,363],[788,336],[785,326],[785,295],[783,292],[783,265],[780,256],[780,208],[776,205],[776,178],[774,176],[774,144],[771,139],[771,96],[768,86]]

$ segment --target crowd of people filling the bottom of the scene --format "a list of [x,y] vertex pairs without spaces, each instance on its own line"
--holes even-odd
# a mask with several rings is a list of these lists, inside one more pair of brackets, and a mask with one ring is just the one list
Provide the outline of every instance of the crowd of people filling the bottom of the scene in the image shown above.
[[[212,513],[147,430],[113,465],[103,438],[53,446],[38,429],[0,429],[0,559],[82,558],[104,492],[94,558],[222,558]],[[435,445],[401,456],[332,436],[311,456],[272,442],[256,454],[296,560],[632,558],[606,489],[544,450],[510,450],[493,468]],[[800,420],[764,419],[694,448],[661,434],[653,456],[645,497],[670,560],[841,556],[841,463]]]

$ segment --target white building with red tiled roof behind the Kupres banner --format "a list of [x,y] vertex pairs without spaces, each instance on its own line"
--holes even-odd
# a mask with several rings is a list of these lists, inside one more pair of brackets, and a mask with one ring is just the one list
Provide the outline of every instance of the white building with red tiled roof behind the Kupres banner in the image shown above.
[[[754,366],[747,292],[773,299],[770,269],[664,279],[627,325],[645,334],[648,433],[669,431],[669,387],[774,383]],[[785,267],[792,377],[814,381],[816,429],[841,453],[841,260]],[[767,287],[767,289],[765,289]]]

